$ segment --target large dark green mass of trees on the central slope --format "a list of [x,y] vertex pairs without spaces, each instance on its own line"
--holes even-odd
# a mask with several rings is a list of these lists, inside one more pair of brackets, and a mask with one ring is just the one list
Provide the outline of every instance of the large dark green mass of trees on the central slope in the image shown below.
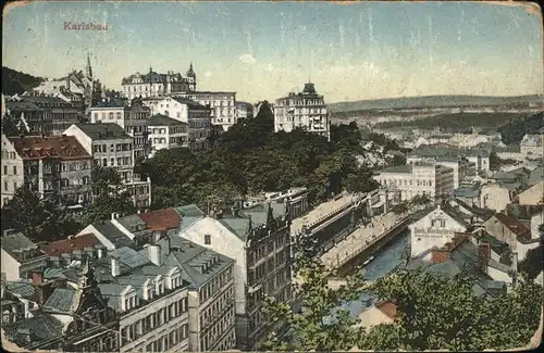
[[375,187],[370,171],[358,168],[362,153],[357,125],[333,126],[331,141],[302,129],[273,131],[267,102],[255,118],[244,119],[222,134],[214,147],[191,153],[177,148],[159,151],[138,169],[153,185],[153,209],[181,202],[225,202],[262,191],[310,188],[310,201],[326,199],[348,188]]

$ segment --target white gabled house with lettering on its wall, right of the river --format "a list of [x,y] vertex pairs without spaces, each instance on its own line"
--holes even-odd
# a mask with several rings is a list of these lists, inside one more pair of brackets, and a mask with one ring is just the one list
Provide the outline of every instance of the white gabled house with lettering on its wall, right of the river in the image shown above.
[[444,247],[454,239],[456,232],[465,232],[468,223],[458,212],[450,207],[437,206],[408,226],[411,257],[417,257],[433,248]]

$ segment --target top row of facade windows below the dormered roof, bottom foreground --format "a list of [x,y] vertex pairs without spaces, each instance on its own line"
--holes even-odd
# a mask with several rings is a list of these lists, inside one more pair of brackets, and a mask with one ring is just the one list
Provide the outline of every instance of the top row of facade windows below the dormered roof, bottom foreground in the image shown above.
[[121,342],[125,345],[139,337],[147,335],[153,329],[170,323],[176,317],[187,313],[187,298],[184,298],[168,307],[161,307],[158,312],[149,314],[146,318],[139,319],[134,324],[121,328]]

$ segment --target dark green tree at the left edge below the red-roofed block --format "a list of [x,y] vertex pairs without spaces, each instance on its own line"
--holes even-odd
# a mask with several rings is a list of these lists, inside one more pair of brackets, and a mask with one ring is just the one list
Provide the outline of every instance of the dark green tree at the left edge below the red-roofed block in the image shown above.
[[15,190],[2,207],[2,231],[15,229],[35,241],[52,241],[64,235],[64,215],[60,209],[25,187]]

